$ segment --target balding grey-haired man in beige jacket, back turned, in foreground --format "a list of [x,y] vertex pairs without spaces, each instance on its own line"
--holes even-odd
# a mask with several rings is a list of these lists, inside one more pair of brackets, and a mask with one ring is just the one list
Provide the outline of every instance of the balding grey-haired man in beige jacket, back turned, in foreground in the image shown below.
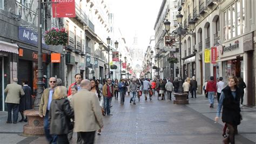
[[79,133],[85,143],[94,143],[95,132],[103,128],[99,99],[95,93],[90,92],[90,80],[82,80],[80,86],[81,90],[71,99],[75,112],[74,132]]

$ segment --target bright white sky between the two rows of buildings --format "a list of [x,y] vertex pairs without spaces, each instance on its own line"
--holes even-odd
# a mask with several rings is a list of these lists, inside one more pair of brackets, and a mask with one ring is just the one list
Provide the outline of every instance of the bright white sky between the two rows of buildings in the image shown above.
[[114,26],[118,27],[132,46],[135,33],[139,47],[144,52],[149,46],[150,36],[154,36],[154,24],[162,3],[161,0],[109,0],[114,13]]

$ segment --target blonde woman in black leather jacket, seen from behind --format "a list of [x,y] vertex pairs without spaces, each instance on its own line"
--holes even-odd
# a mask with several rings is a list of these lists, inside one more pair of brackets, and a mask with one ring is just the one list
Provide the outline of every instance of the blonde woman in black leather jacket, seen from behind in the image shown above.
[[68,133],[72,129],[70,119],[74,118],[73,108],[66,96],[66,87],[56,87],[49,112],[50,134],[58,135],[57,143],[63,144],[69,143]]

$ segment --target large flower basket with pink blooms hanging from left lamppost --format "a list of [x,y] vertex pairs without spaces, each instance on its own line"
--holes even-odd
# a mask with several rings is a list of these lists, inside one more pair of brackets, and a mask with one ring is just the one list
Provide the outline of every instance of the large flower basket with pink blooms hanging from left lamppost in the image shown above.
[[68,43],[68,33],[65,28],[51,28],[45,31],[45,44],[47,45],[66,45]]

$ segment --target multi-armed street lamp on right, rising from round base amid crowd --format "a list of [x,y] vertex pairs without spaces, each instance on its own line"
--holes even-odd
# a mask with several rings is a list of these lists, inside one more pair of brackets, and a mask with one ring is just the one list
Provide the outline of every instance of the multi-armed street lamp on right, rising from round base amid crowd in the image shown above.
[[[187,30],[187,29],[182,27],[183,15],[181,15],[180,11],[179,11],[179,13],[176,17],[177,17],[178,25],[179,25],[179,27],[176,30],[173,30],[172,32],[169,32],[171,23],[167,19],[164,22],[164,26],[165,26],[165,30],[166,30],[168,36],[170,36],[170,35],[179,36],[179,76],[180,76],[180,79],[182,79],[182,74],[181,74],[182,73],[181,72],[181,36],[193,35],[194,25],[195,25],[196,22],[194,20],[191,20],[188,23],[188,24],[190,24],[190,30]],[[182,86],[179,86],[178,91],[183,92]]]

